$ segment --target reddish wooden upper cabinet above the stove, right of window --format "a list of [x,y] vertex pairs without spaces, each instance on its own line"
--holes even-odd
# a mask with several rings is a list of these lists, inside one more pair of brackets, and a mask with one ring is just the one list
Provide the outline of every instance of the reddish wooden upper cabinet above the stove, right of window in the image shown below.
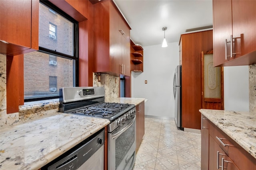
[[130,76],[130,27],[112,1],[94,4],[94,72]]

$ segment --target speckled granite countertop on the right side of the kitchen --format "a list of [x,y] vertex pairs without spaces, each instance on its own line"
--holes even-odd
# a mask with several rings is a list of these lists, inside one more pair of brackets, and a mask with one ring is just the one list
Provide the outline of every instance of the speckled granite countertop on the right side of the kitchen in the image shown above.
[[199,111],[256,158],[255,113],[211,109],[200,109]]

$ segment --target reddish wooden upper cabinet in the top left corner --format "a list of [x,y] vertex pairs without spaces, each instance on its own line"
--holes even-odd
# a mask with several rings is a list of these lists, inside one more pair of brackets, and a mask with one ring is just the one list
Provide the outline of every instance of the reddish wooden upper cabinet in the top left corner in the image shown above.
[[38,50],[39,0],[0,1],[0,52],[19,55]]

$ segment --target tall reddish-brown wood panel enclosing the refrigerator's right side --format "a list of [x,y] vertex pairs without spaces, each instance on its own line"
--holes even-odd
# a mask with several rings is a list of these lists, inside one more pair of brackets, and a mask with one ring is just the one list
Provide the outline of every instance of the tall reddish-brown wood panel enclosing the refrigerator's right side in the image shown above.
[[212,30],[181,35],[182,127],[200,129],[202,108],[201,53],[213,49]]

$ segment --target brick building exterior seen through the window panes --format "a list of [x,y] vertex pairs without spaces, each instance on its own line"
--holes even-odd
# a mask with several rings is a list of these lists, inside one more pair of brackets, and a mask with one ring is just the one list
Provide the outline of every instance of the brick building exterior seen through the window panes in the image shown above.
[[[39,46],[73,55],[73,23],[39,6]],[[74,61],[38,51],[24,55],[24,97],[58,94],[73,86]],[[56,88],[56,91],[55,91]]]

